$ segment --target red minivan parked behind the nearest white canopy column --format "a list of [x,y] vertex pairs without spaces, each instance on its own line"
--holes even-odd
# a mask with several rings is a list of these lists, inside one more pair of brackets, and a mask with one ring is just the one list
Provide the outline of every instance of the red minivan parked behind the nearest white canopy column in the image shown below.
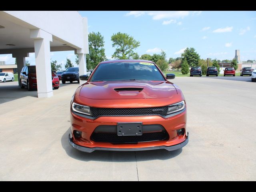
[[[28,90],[37,88],[36,82],[36,66],[24,66],[20,71],[20,88],[27,87]],[[52,71],[52,87],[58,89],[60,80],[58,76]]]

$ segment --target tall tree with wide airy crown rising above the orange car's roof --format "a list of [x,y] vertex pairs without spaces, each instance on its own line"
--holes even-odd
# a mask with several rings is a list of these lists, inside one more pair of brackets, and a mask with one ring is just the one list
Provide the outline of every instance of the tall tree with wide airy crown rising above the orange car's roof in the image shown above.
[[112,58],[130,59],[134,55],[134,49],[140,46],[139,41],[136,41],[126,33],[118,32],[117,34],[113,34],[111,40],[113,42],[112,47],[116,48]]

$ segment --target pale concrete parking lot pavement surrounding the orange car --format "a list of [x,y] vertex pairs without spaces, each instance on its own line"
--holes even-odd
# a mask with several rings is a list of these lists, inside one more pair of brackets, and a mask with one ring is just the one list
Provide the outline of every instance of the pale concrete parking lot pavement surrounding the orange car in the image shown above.
[[[0,83],[0,180],[256,180],[256,83],[249,76],[176,77],[190,140],[168,152],[95,151],[68,144],[77,83],[51,98]],[[80,82],[81,83],[81,82]]]

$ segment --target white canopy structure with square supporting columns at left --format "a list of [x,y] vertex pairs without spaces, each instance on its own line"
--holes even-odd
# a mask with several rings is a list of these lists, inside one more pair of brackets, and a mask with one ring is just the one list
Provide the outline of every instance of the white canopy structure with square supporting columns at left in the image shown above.
[[50,52],[68,50],[86,74],[88,24],[77,11],[0,11],[0,54],[16,58],[19,80],[25,58],[35,53],[38,98],[53,96]]

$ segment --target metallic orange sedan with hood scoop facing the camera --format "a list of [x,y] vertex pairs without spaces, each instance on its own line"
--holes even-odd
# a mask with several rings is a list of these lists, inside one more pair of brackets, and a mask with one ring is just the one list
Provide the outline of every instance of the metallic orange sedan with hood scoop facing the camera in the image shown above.
[[186,101],[173,78],[152,61],[101,62],[72,97],[70,145],[83,152],[182,148]]

